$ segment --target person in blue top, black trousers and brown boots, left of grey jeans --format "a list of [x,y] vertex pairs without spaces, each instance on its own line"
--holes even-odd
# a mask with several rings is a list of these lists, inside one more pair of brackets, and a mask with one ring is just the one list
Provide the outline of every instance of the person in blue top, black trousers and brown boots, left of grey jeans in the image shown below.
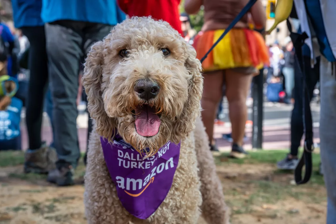
[[[41,140],[43,103],[48,89],[48,60],[42,0],[12,0],[14,26],[22,30],[30,43],[28,69],[30,80],[26,96],[26,125],[29,148],[25,152],[26,173],[48,173],[55,168],[55,151]],[[51,114],[48,114],[51,118]],[[51,123],[53,126],[53,124]],[[54,132],[54,131],[53,131]]]

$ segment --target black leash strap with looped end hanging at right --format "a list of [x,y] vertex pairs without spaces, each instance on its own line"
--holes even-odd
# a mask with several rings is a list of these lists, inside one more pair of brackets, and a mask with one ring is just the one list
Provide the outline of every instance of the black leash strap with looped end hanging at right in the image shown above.
[[[305,72],[304,59],[302,54],[302,46],[304,44],[304,40],[308,38],[306,33],[298,34],[292,32],[292,26],[287,19],[287,27],[290,31],[290,38],[292,39],[294,48],[295,48],[295,57],[296,61],[299,64],[300,72],[303,76],[303,94],[302,94],[302,119],[303,119],[303,130],[305,134],[304,140],[304,150],[301,156],[300,161],[298,162],[295,171],[294,178],[296,184],[305,184],[309,181],[311,172],[312,172],[312,156],[311,152],[314,150],[313,148],[313,131],[312,131],[312,118],[311,118],[311,110],[310,110],[310,96],[308,91],[308,77]],[[303,166],[305,167],[305,174],[302,179],[302,170]]]

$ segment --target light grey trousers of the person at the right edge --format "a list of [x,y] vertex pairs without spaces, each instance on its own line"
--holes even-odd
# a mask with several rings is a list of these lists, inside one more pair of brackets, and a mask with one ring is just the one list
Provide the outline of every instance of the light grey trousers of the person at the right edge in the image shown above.
[[[334,62],[335,63],[335,62]],[[332,71],[334,74],[332,74]],[[327,224],[336,223],[336,74],[332,63],[321,56],[321,161],[327,187]]]

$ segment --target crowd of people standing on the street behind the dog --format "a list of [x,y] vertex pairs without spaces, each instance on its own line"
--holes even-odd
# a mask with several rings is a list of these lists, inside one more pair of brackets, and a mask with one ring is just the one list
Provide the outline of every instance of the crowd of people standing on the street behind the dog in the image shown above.
[[[9,52],[6,60],[1,61],[1,68],[6,71],[1,74],[20,79],[19,73],[26,71],[24,69],[29,71],[27,88],[25,89],[25,82],[21,82],[22,85],[19,85],[15,95],[26,107],[29,148],[25,151],[25,172],[47,173],[47,180],[58,186],[73,184],[73,170],[80,159],[76,126],[77,105],[80,98],[86,100],[80,85],[82,63],[92,44],[107,36],[116,24],[127,16],[163,19],[186,41],[193,44],[197,58],[201,59],[247,0],[185,0],[185,12],[182,14],[179,13],[180,0],[157,0],[155,4],[145,2],[148,4],[135,0],[88,1],[85,4],[67,0],[12,0],[13,20],[17,30],[11,32],[6,24],[0,24],[1,41]],[[204,7],[204,24],[201,31],[196,33],[191,29],[189,15],[197,13],[201,7]],[[306,10],[311,20],[320,19],[320,15],[316,15],[309,8]],[[336,61],[331,47],[335,40],[326,40],[325,28],[323,30],[313,25],[308,26],[301,18],[298,29],[299,33],[309,30],[312,39],[312,44],[302,47],[304,72],[310,77],[306,87],[303,86],[292,39],[285,38],[283,47],[277,41],[269,47],[266,46],[262,36],[266,15],[261,0],[255,3],[249,13],[211,51],[202,63],[204,90],[201,99],[202,120],[209,137],[210,150],[218,151],[213,130],[215,120],[220,120],[222,99],[225,96],[232,123],[232,133],[226,136],[232,141],[230,156],[243,158],[248,154],[243,148],[246,137],[246,100],[253,77],[262,75],[260,69],[265,68],[268,100],[294,103],[290,153],[278,163],[278,167],[296,167],[298,148],[304,132],[303,89],[308,88],[311,99],[320,80],[321,98],[324,97],[324,100],[321,99],[321,117],[324,116],[321,120],[321,148],[328,148],[324,152],[321,150],[322,161],[326,162],[326,170],[332,171],[335,168],[335,165],[330,164],[330,158],[327,158],[327,153],[334,153],[331,150],[331,142],[334,141],[331,133],[336,127],[335,125],[330,128],[328,124],[329,120],[335,120],[335,115],[330,111],[335,111],[336,104],[330,103],[330,100],[335,100],[332,96],[336,91],[336,84],[329,77],[334,73],[332,68]],[[319,46],[321,56],[316,56],[313,46]],[[321,70],[320,64],[323,67]],[[51,121],[51,145],[41,139],[44,110]],[[0,141],[6,142],[1,143],[0,150],[21,149],[20,134],[2,138],[1,133],[3,136],[7,133],[4,130],[4,127],[0,127]],[[89,119],[88,138],[91,130],[92,121]],[[332,141],[329,142],[331,138]],[[331,188],[335,178],[327,178],[326,181]],[[334,195],[329,196],[328,205],[336,207]]]

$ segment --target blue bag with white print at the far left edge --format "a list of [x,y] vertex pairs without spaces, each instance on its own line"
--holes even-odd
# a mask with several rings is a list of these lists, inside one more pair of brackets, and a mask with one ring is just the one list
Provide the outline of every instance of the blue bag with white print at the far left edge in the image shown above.
[[12,98],[11,104],[6,110],[0,110],[0,150],[20,150],[20,120],[22,101]]

